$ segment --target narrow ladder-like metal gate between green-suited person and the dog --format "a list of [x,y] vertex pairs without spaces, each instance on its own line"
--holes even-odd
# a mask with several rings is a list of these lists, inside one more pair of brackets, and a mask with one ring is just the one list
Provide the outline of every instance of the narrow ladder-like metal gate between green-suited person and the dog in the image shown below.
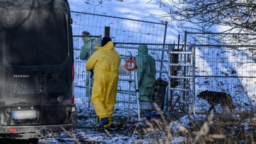
[[176,109],[179,113],[188,115],[193,109],[194,98],[191,86],[193,81],[193,49],[186,45],[177,45],[178,49],[174,49],[175,45],[169,49],[169,85],[168,85],[168,101],[171,102],[172,109]]

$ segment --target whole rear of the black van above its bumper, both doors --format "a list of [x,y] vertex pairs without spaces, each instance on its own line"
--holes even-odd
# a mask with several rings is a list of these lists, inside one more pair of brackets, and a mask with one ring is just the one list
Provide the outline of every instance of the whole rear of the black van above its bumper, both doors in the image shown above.
[[73,61],[67,1],[21,2],[0,3],[0,109],[35,109],[36,118],[3,115],[1,123],[67,123]]

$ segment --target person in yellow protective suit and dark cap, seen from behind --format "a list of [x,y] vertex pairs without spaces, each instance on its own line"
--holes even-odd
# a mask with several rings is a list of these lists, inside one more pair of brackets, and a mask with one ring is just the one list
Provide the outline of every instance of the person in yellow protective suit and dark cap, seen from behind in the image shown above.
[[92,105],[100,119],[96,127],[108,128],[115,108],[121,58],[109,37],[102,38],[102,47],[96,46],[96,49],[86,63],[86,70],[94,68]]

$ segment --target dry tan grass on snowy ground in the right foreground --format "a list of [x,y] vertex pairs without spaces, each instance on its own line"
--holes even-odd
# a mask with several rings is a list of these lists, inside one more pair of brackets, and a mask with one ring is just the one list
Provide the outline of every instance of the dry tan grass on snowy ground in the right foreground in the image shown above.
[[[200,116],[183,116],[182,118],[186,117],[189,121],[186,124],[182,123],[182,120],[174,121],[164,115],[161,115],[161,118],[151,118],[143,122],[127,122],[124,119],[124,122],[114,125],[118,127],[115,133],[129,136],[131,138],[129,143],[255,144],[256,113],[254,111],[237,111],[236,113],[223,111],[222,113],[204,113]],[[142,123],[144,127],[141,127]],[[174,123],[175,127],[172,125]],[[79,143],[75,136],[70,134],[70,137]]]

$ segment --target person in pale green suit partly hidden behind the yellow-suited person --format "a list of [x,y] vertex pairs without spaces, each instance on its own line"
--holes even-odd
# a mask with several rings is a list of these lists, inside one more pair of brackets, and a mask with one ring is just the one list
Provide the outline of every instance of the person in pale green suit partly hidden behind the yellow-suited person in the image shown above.
[[[97,49],[95,47],[92,47],[92,37],[86,37],[86,36],[92,36],[92,35],[90,35],[90,33],[88,31],[83,31],[82,35],[84,35],[85,37],[82,37],[82,40],[83,40],[84,44],[81,47],[80,60],[88,61],[88,59],[91,56],[91,53],[93,54],[93,52],[95,52]],[[95,43],[95,41],[93,41],[93,42]],[[90,93],[89,93],[90,75],[91,75],[90,71],[87,71],[86,83],[85,83],[86,84],[86,94],[85,94],[86,97],[90,96]],[[92,84],[93,84],[93,79],[91,79],[91,86],[92,86]]]

